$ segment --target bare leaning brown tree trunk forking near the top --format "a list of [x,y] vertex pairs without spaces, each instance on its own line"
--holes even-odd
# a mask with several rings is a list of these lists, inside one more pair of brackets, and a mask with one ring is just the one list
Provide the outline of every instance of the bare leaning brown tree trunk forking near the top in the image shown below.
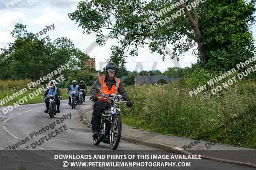
[[[180,0],[177,0],[177,2],[180,2]],[[194,2],[195,3],[195,0]],[[181,4],[181,3],[180,3]],[[186,5],[184,3],[181,4],[181,7],[184,9],[184,12],[188,18],[188,20],[190,21],[190,25],[192,26],[193,30],[194,30],[194,33],[195,33],[195,41],[197,42],[197,45],[198,45],[198,48],[199,48],[199,54],[202,56],[202,61],[203,61],[203,65],[205,63],[207,63],[207,56],[205,56],[205,49],[202,45],[203,43],[203,38],[201,36],[201,33],[200,33],[200,29],[197,25],[198,23],[198,14],[197,14],[197,7],[195,7],[195,19],[196,21],[192,18],[190,12],[188,11],[188,9],[186,8]]]

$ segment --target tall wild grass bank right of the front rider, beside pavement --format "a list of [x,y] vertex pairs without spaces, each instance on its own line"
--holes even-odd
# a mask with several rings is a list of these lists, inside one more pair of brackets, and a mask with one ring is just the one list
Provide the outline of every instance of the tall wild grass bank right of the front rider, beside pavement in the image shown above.
[[[132,108],[120,105],[122,121],[165,135],[256,148],[256,82],[242,81],[205,100],[182,82],[129,86]],[[205,91],[204,91],[205,92]]]

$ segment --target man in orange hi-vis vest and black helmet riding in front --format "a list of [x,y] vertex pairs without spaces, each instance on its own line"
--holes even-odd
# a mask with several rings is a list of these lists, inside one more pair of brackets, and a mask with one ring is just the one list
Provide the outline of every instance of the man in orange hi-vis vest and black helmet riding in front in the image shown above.
[[[98,132],[100,131],[100,114],[102,111],[108,107],[108,101],[104,99],[97,99],[97,86],[101,86],[103,83],[102,92],[103,94],[115,94],[116,90],[123,99],[128,101],[127,106],[132,107],[133,102],[128,97],[128,92],[125,91],[120,79],[114,78],[117,72],[117,65],[115,63],[108,63],[106,65],[106,75],[99,77],[92,85],[90,100],[94,101],[94,112],[92,117],[92,137],[98,138]],[[117,88],[116,88],[117,85]]]

